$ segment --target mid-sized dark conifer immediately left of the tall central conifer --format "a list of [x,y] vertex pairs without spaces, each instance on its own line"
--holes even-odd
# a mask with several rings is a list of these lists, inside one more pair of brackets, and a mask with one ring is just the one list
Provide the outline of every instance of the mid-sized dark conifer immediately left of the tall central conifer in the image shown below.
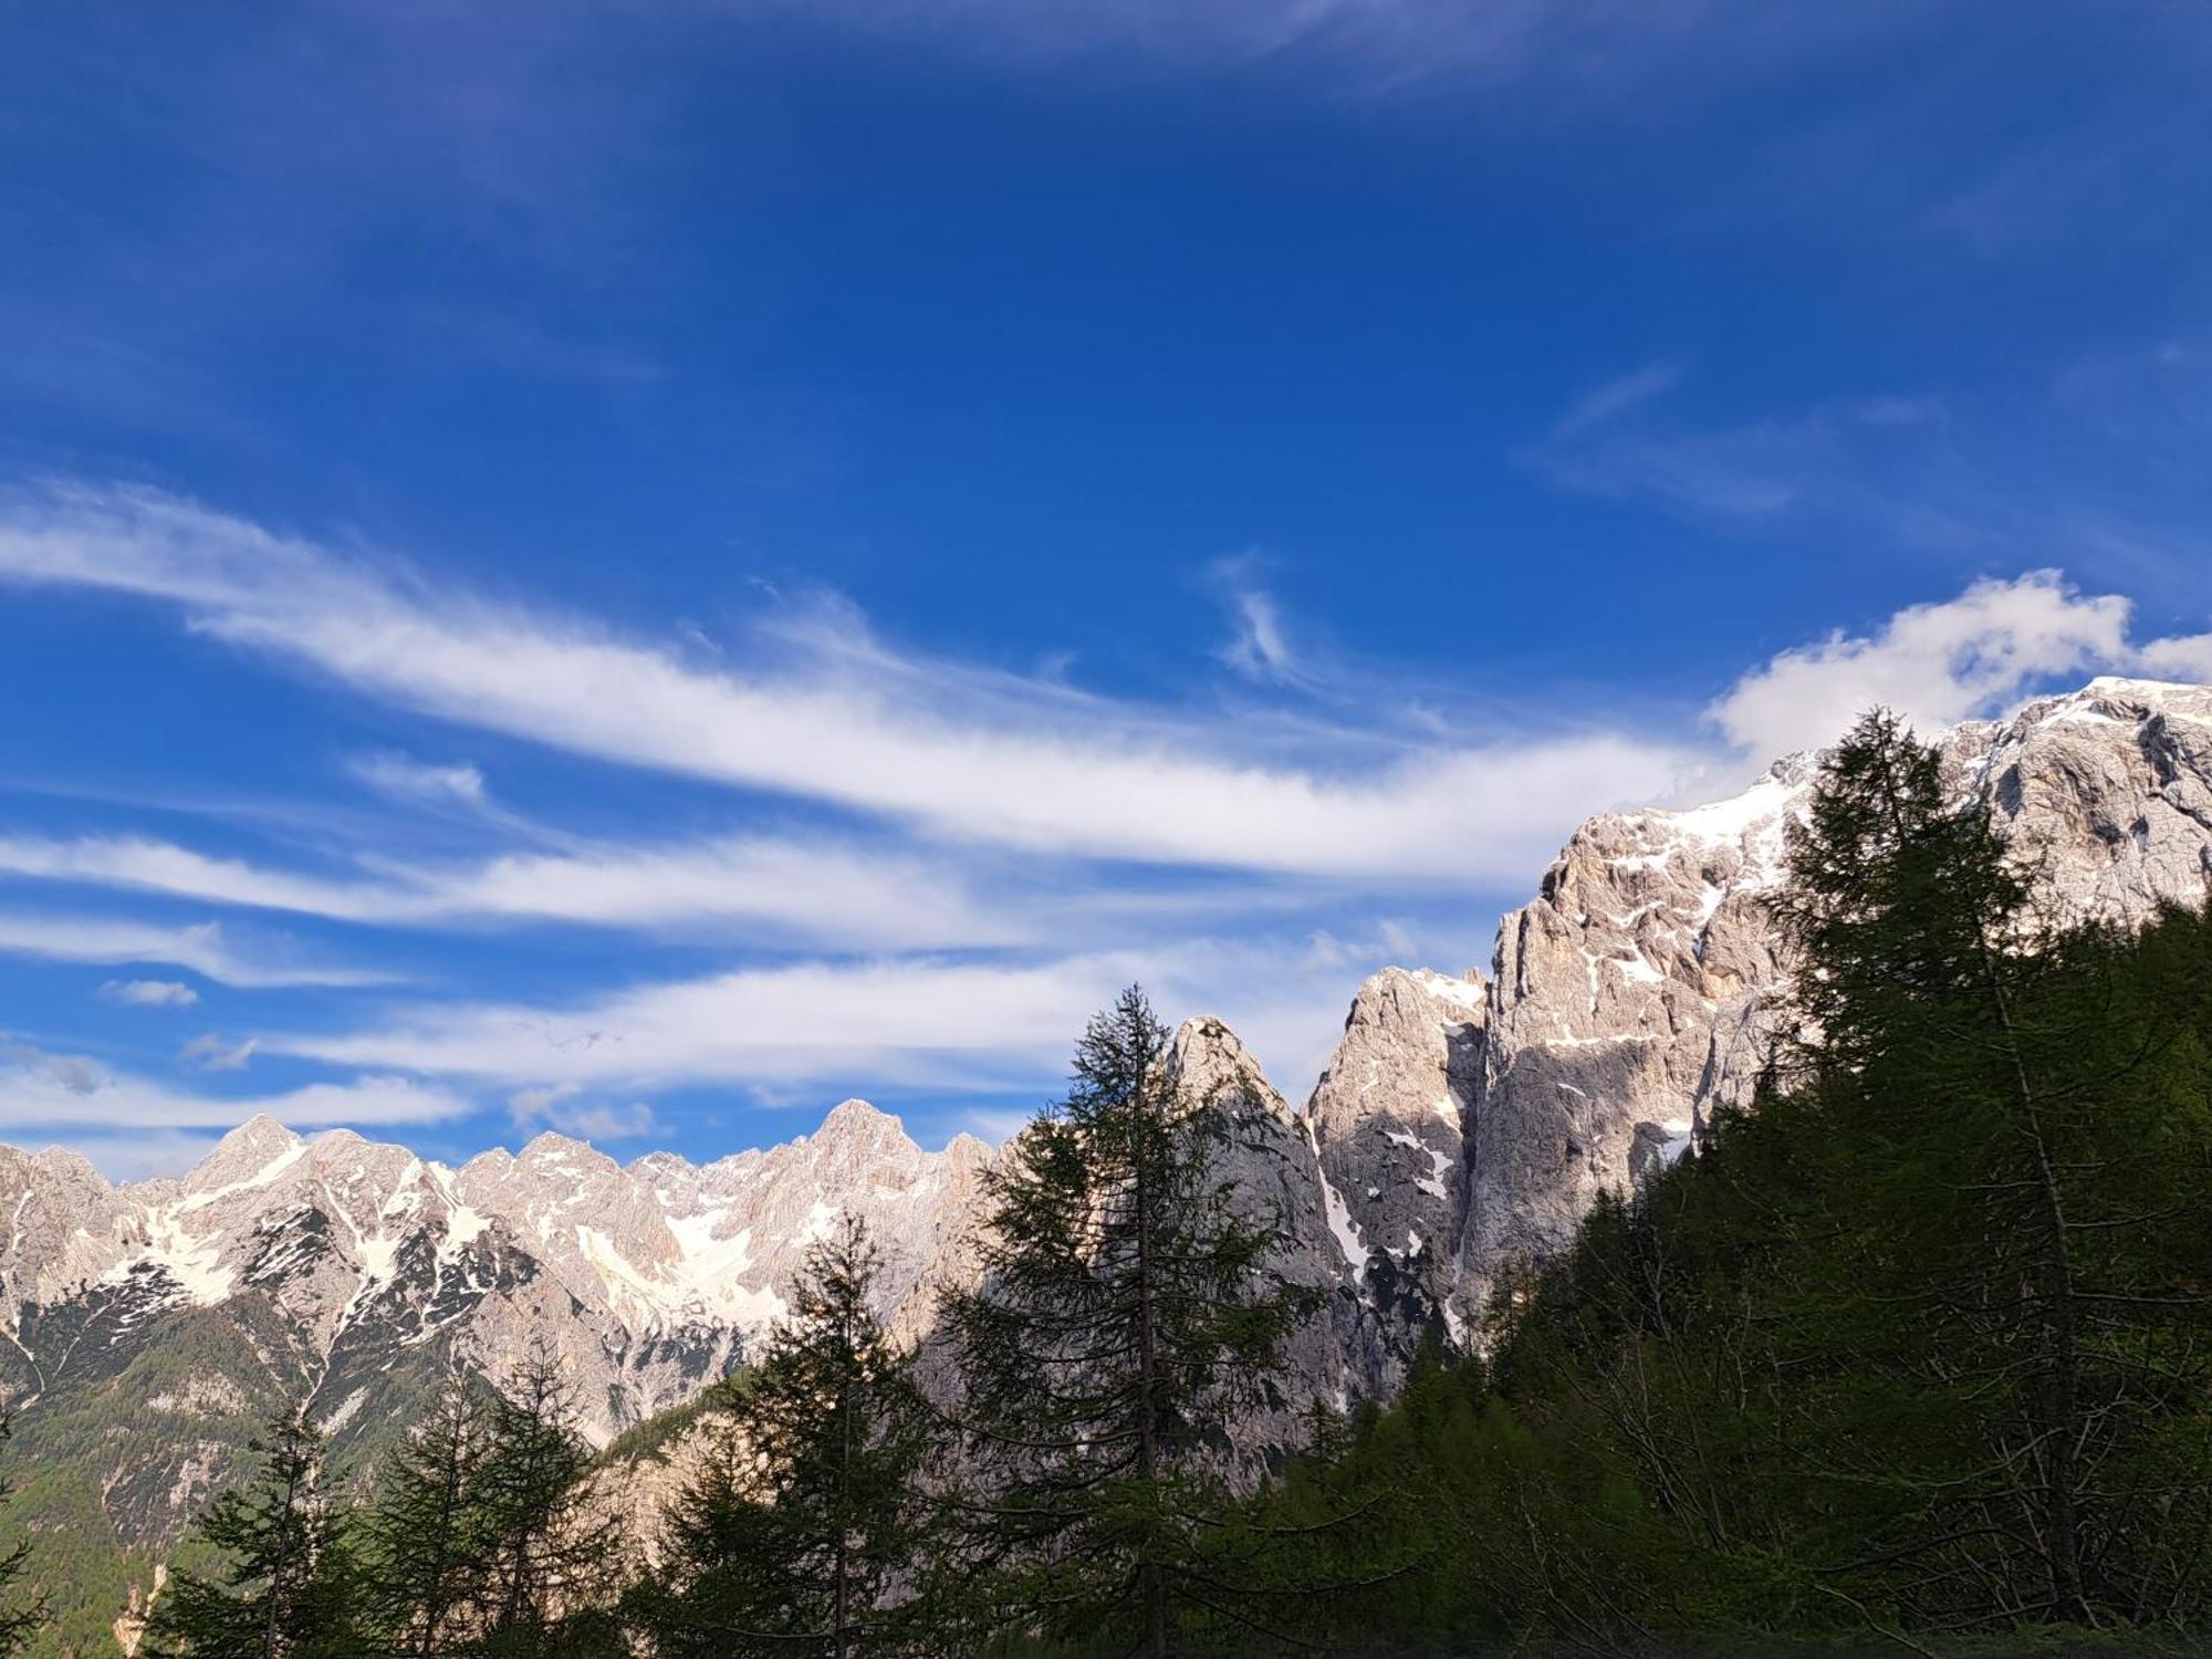
[[648,1617],[666,1659],[920,1650],[933,1418],[869,1310],[878,1263],[845,1219],[807,1250],[761,1363],[726,1387],[668,1517],[668,1593]]

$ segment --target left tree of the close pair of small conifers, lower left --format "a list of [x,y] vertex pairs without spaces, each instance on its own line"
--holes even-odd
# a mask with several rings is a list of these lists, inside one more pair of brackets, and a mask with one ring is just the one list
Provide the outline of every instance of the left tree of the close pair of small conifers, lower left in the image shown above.
[[456,1371],[380,1480],[363,1524],[367,1604],[392,1655],[469,1652],[491,1579],[484,1460],[491,1413]]

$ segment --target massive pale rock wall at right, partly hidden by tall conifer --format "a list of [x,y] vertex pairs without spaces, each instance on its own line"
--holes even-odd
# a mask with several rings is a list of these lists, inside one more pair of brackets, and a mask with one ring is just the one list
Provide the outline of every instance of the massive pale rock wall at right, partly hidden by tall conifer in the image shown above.
[[[2212,690],[2097,679],[1942,741],[2039,905],[2062,922],[2139,925],[2205,902]],[[1778,761],[1734,801],[1593,818],[1504,918],[1482,1084],[1469,1117],[1458,1296],[1500,1263],[1557,1250],[1601,1188],[1741,1102],[1787,982],[1761,896],[1818,757]]]

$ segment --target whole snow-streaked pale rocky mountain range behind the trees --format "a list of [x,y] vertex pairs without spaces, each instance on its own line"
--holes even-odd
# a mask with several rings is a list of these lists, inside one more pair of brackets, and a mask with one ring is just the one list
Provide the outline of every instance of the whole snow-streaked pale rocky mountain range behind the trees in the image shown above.
[[[2053,914],[2203,902],[2212,690],[2097,679],[1942,752]],[[1263,1455],[1307,1402],[1391,1391],[1425,1336],[1464,1338],[1506,1261],[1557,1250],[1597,1192],[1747,1095],[1787,978],[1761,898],[1816,761],[1714,805],[1590,818],[1502,920],[1489,975],[1358,989],[1303,1108],[1225,1024],[1183,1022],[1175,1064],[1219,1113],[1237,1203],[1276,1228],[1270,1272],[1321,1301],[1285,1398],[1239,1444]],[[108,1564],[91,1582],[113,1617],[270,1411],[310,1398],[361,1460],[451,1365],[500,1376],[544,1347],[606,1442],[739,1365],[841,1214],[883,1252],[878,1312],[927,1340],[938,1294],[973,1279],[993,1157],[967,1135],[925,1152],[858,1099],[703,1166],[540,1135],[453,1170],[265,1117],[181,1181],[0,1148],[0,1387],[35,1475],[18,1502]]]

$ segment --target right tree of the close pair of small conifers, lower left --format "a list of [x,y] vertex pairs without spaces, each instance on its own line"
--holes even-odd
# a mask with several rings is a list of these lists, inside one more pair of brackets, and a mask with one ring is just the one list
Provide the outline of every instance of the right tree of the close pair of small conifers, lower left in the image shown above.
[[591,1449],[553,1358],[535,1349],[491,1402],[476,1467],[482,1606],[473,1652],[619,1652],[622,1544],[593,1504]]

